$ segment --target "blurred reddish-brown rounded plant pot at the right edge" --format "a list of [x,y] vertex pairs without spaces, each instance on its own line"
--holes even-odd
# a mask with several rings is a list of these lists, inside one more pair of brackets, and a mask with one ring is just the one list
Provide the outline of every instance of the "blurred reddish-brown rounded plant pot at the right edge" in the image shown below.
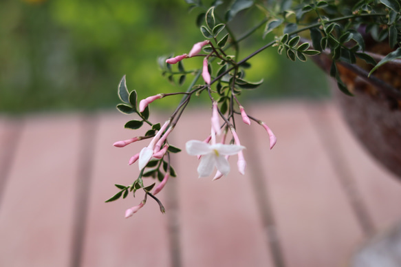
[[[382,58],[371,55],[376,61]],[[329,72],[331,61],[327,55],[316,56],[314,61]],[[372,78],[367,78],[369,67],[358,64],[337,64],[340,77],[354,96],[337,88],[334,96],[358,140],[401,180],[401,63],[383,65]]]

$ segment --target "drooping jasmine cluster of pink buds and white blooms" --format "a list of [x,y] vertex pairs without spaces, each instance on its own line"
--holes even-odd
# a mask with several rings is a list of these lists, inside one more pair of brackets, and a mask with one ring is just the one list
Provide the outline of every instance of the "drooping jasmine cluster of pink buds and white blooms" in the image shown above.
[[[202,50],[202,47],[204,47],[205,45],[212,44],[208,40],[195,43],[188,54],[182,54],[173,58],[167,58],[165,62],[166,64],[181,64],[180,61],[182,61],[184,58],[198,56],[199,52]],[[188,142],[186,142],[186,152],[191,156],[198,156],[198,159],[200,159],[199,166],[197,167],[199,178],[210,176],[215,168],[217,169],[217,171],[213,180],[217,180],[219,178],[222,178],[224,175],[228,175],[228,173],[230,172],[230,164],[228,162],[228,158],[234,155],[237,155],[238,158],[237,168],[239,173],[245,175],[246,160],[243,156],[243,149],[245,149],[245,147],[241,145],[239,141],[239,136],[235,131],[234,114],[240,114],[242,121],[246,125],[250,125],[251,120],[255,120],[259,123],[259,125],[262,125],[266,129],[266,131],[268,131],[268,134],[270,136],[270,149],[276,143],[276,137],[274,136],[270,128],[265,125],[264,122],[261,122],[261,120],[257,120],[252,116],[248,116],[248,114],[246,114],[245,109],[242,105],[239,104],[239,101],[237,100],[234,87],[232,87],[232,89],[230,90],[231,100],[235,100],[237,102],[239,111],[235,111],[235,109],[232,109],[233,103],[231,103],[231,108],[228,116],[226,117],[224,115],[227,111],[221,110],[223,106],[219,107],[219,101],[215,100],[212,97],[213,92],[210,89],[210,85],[212,85],[212,83],[214,83],[215,81],[212,81],[212,76],[210,75],[208,58],[210,56],[218,56],[217,50],[213,49],[213,52],[199,56],[204,56],[202,72],[199,72],[199,74],[202,75],[205,84],[195,87],[195,89],[190,87],[187,92],[183,93],[156,94],[155,96],[149,96],[140,100],[139,105],[137,105],[136,103],[137,99],[135,90],[133,90],[133,92],[131,93],[124,92],[124,90],[123,92],[119,91],[120,98],[122,100],[125,100],[124,102],[130,104],[130,106],[127,106],[125,104],[123,104],[123,106],[120,106],[120,111],[129,111],[131,113],[135,111],[136,114],[138,114],[142,119],[127,122],[128,127],[131,127],[131,129],[138,129],[144,124],[144,122],[151,125],[151,130],[147,131],[145,136],[136,136],[127,140],[115,142],[113,144],[115,147],[125,147],[133,142],[151,138],[149,145],[143,147],[140,152],[136,153],[129,159],[129,165],[138,162],[138,168],[140,170],[140,175],[138,179],[129,186],[116,184],[118,189],[120,189],[120,192],[107,200],[107,202],[116,200],[121,195],[123,195],[123,197],[126,197],[129,191],[133,191],[135,196],[135,192],[138,189],[143,189],[145,192],[144,200],[142,200],[140,204],[133,206],[130,209],[127,209],[127,211],[125,212],[126,218],[131,217],[134,213],[142,209],[144,204],[146,204],[147,202],[148,195],[158,202],[158,204],[160,205],[160,210],[164,212],[164,207],[162,206],[158,198],[155,197],[155,195],[162,191],[170,176],[175,176],[175,171],[173,171],[173,168],[170,166],[170,153],[180,151],[180,149],[169,145],[169,142],[167,142],[167,137],[169,136],[171,131],[173,131],[175,125],[177,124],[177,121],[180,119],[182,112],[184,111],[186,105],[188,105],[189,100],[191,99],[191,96],[193,94],[202,92],[202,90],[206,90],[210,96],[210,100],[212,100],[210,136],[208,136],[208,138],[206,138],[206,140],[204,140],[203,142],[199,140],[189,140]],[[123,78],[122,82],[120,83],[119,90],[121,90],[122,88],[124,89],[124,87],[126,87],[126,85]],[[125,90],[127,89],[125,88]],[[151,122],[149,122],[149,104],[160,98],[173,96],[176,94],[183,94],[184,97],[182,98],[182,101],[177,109],[175,109],[173,114],[171,114],[170,118],[166,120],[166,122],[164,122],[161,127],[159,123],[152,124]],[[222,124],[220,122],[221,119],[223,120]],[[230,120],[232,122],[230,122]],[[226,143],[228,133],[231,133],[230,135],[232,136],[232,139],[230,140],[230,142]],[[216,142],[217,136],[221,136],[221,142]],[[165,160],[165,158],[167,158],[167,160]],[[145,169],[147,169],[147,171],[145,171]],[[153,176],[154,178],[157,177],[160,181],[158,186],[155,186],[155,189],[153,189],[153,186],[155,184],[152,184],[151,186],[144,186],[142,178],[147,176]]]

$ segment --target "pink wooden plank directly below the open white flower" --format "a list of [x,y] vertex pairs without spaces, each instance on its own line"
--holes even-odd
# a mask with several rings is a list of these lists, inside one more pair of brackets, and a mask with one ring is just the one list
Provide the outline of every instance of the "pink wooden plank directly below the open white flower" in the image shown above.
[[182,266],[272,266],[265,229],[257,211],[248,174],[237,171],[237,156],[230,160],[228,177],[212,181],[197,178],[195,156],[184,151],[188,140],[210,134],[210,111],[186,112],[171,139],[183,149],[177,154]]

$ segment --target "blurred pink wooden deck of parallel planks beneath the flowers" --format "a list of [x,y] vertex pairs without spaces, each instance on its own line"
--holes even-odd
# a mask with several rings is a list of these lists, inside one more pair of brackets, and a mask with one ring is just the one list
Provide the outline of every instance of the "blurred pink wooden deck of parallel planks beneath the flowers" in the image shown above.
[[[401,219],[401,182],[332,103],[249,106],[277,135],[272,151],[263,128],[240,127],[246,175],[233,158],[215,182],[179,153],[178,177],[160,193],[166,214],[148,200],[129,219],[142,195],[105,203],[113,184],[138,175],[127,162],[144,143],[111,146],[132,137],[129,116],[0,116],[0,266],[347,266],[369,235]],[[204,140],[209,123],[208,112],[188,111],[169,140]]]

